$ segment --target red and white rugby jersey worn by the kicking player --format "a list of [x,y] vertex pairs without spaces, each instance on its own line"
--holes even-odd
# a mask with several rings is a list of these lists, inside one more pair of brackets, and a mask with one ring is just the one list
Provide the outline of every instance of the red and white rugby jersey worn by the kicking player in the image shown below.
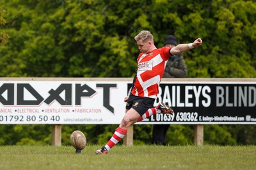
[[171,56],[169,52],[169,47],[163,47],[150,53],[140,53],[137,59],[137,75],[131,91],[134,96],[157,98],[159,83]]

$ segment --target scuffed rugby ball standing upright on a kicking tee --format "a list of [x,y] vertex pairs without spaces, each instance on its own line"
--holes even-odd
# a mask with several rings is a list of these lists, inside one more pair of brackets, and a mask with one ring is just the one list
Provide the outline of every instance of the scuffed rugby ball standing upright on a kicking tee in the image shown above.
[[78,150],[83,150],[86,146],[86,138],[81,131],[74,131],[70,136],[71,144]]

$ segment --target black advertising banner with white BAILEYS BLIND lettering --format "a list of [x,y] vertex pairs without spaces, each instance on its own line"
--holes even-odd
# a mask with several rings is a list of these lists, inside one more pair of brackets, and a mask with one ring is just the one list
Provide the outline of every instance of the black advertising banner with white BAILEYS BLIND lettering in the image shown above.
[[141,123],[256,124],[255,82],[162,82],[154,105],[160,101],[175,113]]

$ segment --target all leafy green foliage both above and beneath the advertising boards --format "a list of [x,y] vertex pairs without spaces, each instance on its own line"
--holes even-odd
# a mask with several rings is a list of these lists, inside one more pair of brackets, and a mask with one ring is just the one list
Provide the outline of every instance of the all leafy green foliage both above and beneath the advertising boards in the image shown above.
[[[203,39],[184,53],[189,78],[255,78],[256,3],[242,0],[1,0],[1,77],[133,77],[141,30],[163,46]],[[8,41],[6,41],[8,39]],[[80,129],[106,143],[117,125],[63,125],[63,145]],[[1,125],[0,145],[50,145],[51,125]],[[205,125],[205,143],[254,144],[255,125]],[[150,143],[152,125],[134,125]],[[193,125],[171,125],[170,145],[193,144]]]

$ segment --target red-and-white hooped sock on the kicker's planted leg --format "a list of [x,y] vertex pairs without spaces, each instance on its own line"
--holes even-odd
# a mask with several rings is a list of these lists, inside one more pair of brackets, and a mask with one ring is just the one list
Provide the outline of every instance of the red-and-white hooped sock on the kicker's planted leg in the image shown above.
[[125,134],[127,133],[127,129],[122,129],[121,127],[116,128],[115,133],[113,134],[112,138],[108,141],[107,145],[105,146],[107,150],[110,150],[113,146],[116,145],[122,138],[124,138]]

